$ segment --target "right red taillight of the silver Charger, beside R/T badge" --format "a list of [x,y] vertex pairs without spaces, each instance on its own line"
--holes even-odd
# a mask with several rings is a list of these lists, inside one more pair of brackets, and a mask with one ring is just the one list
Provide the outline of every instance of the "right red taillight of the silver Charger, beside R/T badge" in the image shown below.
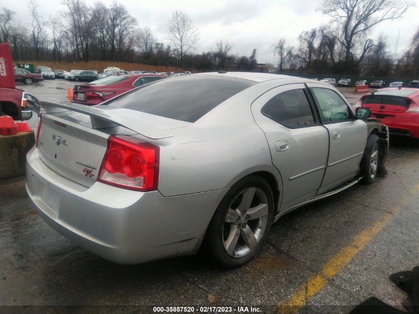
[[111,135],[98,181],[137,191],[157,189],[160,148],[139,138]]

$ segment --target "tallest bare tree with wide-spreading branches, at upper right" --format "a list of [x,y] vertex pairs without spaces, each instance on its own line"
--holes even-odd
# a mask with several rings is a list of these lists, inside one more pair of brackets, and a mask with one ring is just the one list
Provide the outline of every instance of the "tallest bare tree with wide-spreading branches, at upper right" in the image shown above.
[[410,0],[323,0],[318,9],[332,18],[333,35],[344,47],[348,62],[362,34],[382,21],[401,17],[411,6]]

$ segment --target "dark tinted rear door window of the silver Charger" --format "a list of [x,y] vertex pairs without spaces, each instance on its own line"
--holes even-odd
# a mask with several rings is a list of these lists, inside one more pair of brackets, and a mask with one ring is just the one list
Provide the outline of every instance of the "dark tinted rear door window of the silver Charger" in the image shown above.
[[262,107],[261,112],[280,125],[290,128],[314,124],[310,104],[302,89],[274,96]]

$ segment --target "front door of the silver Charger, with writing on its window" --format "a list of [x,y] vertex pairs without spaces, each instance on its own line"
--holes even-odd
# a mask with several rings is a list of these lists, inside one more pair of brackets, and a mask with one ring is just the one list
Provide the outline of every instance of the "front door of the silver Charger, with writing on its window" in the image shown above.
[[328,130],[329,157],[326,173],[318,191],[322,194],[354,178],[367,138],[366,123],[357,119],[344,98],[334,89],[307,83],[316,102],[320,119]]

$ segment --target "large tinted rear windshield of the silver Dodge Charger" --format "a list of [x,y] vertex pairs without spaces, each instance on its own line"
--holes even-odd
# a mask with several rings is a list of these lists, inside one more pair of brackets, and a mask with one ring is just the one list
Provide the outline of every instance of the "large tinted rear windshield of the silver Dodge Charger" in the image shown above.
[[254,84],[234,77],[184,75],[145,85],[108,104],[193,123]]

